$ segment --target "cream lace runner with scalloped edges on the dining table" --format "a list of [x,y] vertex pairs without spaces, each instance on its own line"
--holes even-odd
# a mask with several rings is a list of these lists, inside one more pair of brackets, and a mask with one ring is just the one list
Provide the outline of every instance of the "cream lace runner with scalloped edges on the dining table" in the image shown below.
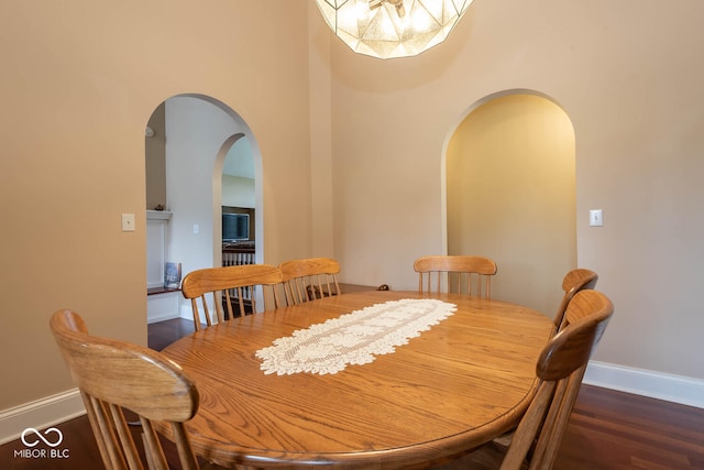
[[334,374],[389,354],[452,315],[457,305],[436,299],[391,300],[312,325],[256,351],[266,374]]

